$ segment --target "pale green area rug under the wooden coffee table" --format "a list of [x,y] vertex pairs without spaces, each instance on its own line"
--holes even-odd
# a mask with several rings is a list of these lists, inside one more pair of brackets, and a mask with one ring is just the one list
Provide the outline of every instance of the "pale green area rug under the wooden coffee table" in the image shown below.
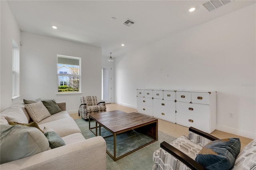
[[[76,124],[82,131],[82,135],[84,138],[92,138],[95,135],[89,130],[89,123],[86,122],[84,119],[75,119]],[[95,123],[91,123],[91,126],[95,126]],[[106,129],[101,129],[102,136],[108,136],[110,132],[108,132]],[[120,153],[118,154],[123,154],[122,152],[128,152],[129,147],[128,145],[137,145],[140,144],[141,142],[145,142],[148,140],[151,140],[147,136],[144,136],[142,134],[137,133],[136,131],[132,130],[127,132],[126,134],[123,134],[123,136],[119,136],[119,138],[124,138],[126,136],[126,142],[120,142],[119,146],[122,149],[119,149]],[[136,137],[136,142],[132,143],[132,138]],[[118,138],[118,136],[117,136]],[[130,139],[129,139],[130,138]],[[132,154],[129,154],[125,156],[124,158],[121,158],[114,162],[108,154],[106,154],[106,169],[107,170],[152,170],[152,166],[154,164],[153,162],[153,152],[160,148],[160,143],[163,141],[166,141],[168,143],[172,142],[176,138],[173,136],[170,136],[164,132],[158,131],[158,141],[153,142],[152,144],[149,144],[148,146],[145,146],[144,148],[141,148]],[[112,143],[111,137],[108,137],[105,139],[107,143],[107,148],[108,150],[112,147],[109,143]],[[118,139],[117,139],[118,140]],[[135,141],[135,140],[134,140]],[[126,145],[125,145],[126,144]],[[136,146],[135,146],[136,147]]]

